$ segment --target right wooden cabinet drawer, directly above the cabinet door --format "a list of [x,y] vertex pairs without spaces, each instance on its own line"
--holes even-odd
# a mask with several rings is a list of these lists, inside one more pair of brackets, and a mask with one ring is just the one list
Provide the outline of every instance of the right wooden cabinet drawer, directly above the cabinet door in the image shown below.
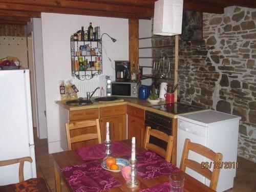
[[100,117],[126,114],[126,105],[104,106],[99,109]]

